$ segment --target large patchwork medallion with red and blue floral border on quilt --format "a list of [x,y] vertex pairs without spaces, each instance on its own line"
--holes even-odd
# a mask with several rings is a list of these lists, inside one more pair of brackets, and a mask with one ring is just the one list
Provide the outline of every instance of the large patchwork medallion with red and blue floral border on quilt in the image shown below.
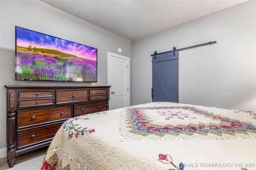
[[256,138],[252,122],[193,106],[128,107],[120,117],[120,141],[250,138]]

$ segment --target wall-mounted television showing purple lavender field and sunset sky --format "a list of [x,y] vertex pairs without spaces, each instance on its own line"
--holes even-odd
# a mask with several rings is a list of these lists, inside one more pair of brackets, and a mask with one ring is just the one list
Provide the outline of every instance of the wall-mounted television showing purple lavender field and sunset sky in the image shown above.
[[97,49],[15,26],[15,80],[97,82]]

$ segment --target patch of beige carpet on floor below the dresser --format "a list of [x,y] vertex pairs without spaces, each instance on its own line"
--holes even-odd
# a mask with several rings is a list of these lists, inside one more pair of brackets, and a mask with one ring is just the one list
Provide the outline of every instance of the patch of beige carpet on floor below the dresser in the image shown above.
[[9,168],[6,157],[1,158],[0,170],[40,170],[47,149],[44,147],[18,155],[13,168]]

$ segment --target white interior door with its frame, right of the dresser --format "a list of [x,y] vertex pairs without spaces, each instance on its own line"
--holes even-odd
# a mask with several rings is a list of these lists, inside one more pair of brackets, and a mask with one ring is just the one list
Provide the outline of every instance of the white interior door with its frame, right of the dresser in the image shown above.
[[109,109],[130,106],[130,58],[108,52]]

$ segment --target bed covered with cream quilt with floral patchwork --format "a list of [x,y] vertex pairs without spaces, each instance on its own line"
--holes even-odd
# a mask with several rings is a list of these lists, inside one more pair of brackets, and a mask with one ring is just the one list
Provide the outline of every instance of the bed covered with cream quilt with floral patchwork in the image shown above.
[[151,102],[74,117],[41,170],[253,170],[256,111]]

